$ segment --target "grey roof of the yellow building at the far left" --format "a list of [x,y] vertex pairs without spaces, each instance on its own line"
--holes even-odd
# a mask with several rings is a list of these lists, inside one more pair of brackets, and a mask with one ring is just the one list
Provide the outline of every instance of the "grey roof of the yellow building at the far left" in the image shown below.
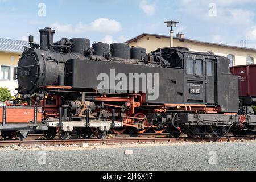
[[0,38],[0,52],[22,53],[24,46],[30,47],[30,44],[22,40]]

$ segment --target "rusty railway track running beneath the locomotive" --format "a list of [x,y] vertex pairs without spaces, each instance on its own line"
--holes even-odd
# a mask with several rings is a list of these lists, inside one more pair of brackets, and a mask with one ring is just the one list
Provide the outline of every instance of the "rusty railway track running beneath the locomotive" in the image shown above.
[[18,146],[30,146],[30,145],[77,145],[80,143],[89,143],[89,144],[110,144],[110,143],[149,143],[149,142],[234,142],[237,140],[256,140],[255,136],[241,136],[241,137],[224,137],[224,138],[213,138],[213,137],[205,137],[205,138],[188,138],[188,137],[180,137],[180,138],[167,138],[167,137],[113,137],[106,140],[100,139],[71,139],[71,140],[45,140],[45,139],[35,139],[35,140],[25,140],[20,142],[18,140],[0,140],[0,147],[7,147],[13,144]]

